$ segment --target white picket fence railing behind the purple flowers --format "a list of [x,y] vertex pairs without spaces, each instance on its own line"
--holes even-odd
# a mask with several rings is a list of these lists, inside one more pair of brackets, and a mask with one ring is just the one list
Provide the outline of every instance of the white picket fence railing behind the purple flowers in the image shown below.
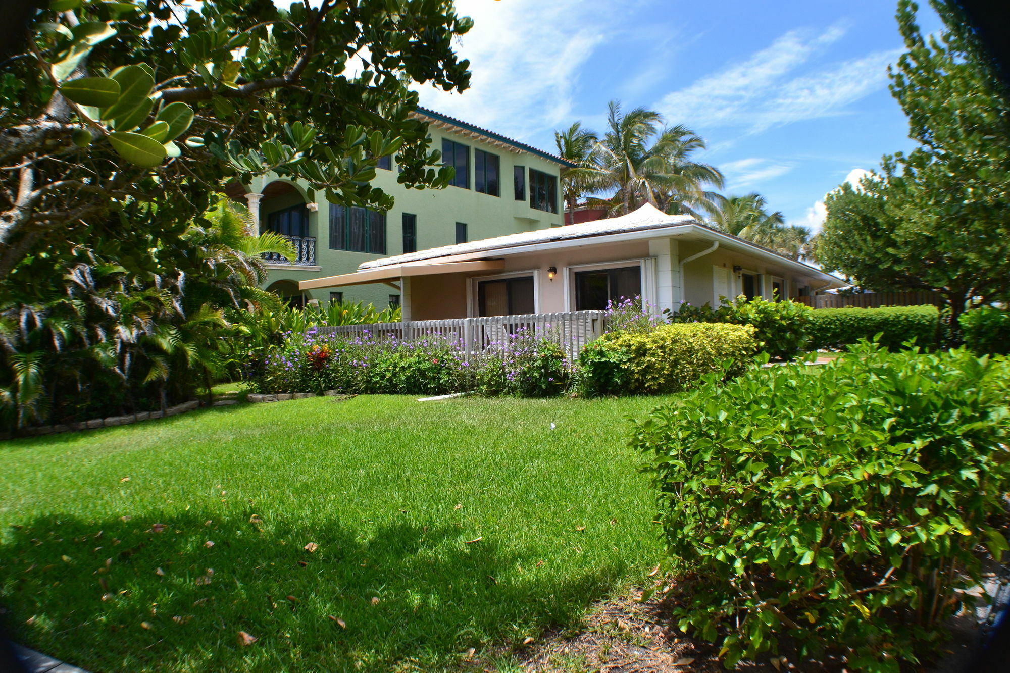
[[603,311],[378,322],[318,329],[320,333],[346,334],[373,340],[395,339],[400,342],[418,342],[436,338],[456,344],[465,353],[478,353],[489,347],[507,350],[514,342],[510,339],[510,334],[532,333],[556,342],[570,355],[575,356],[583,346],[603,333]]

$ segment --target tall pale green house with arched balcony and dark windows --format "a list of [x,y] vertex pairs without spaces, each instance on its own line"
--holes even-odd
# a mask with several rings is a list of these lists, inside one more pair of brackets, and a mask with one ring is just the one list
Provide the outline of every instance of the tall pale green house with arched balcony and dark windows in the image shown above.
[[327,291],[299,290],[298,282],[350,273],[369,260],[563,224],[559,175],[568,162],[431,110],[414,114],[428,122],[431,147],[456,167],[456,178],[445,189],[408,189],[397,182],[395,157],[385,158],[373,184],[396,199],[387,213],[309,202],[304,185],[276,176],[229,187],[229,196],[248,203],[261,230],[282,233],[298,248],[294,264],[269,261],[266,289],[295,304],[399,304],[395,283]]

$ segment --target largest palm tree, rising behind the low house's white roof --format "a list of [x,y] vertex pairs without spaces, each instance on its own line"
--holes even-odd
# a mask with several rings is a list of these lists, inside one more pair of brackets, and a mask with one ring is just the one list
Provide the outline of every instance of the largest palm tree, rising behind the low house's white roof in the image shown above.
[[654,110],[636,107],[625,113],[610,101],[607,132],[598,140],[583,168],[570,170],[587,191],[614,190],[609,199],[592,199],[611,213],[626,214],[642,203],[671,213],[696,214],[717,207],[720,197],[706,189],[722,187],[714,167],[691,160],[705,141],[684,125],[661,128]]

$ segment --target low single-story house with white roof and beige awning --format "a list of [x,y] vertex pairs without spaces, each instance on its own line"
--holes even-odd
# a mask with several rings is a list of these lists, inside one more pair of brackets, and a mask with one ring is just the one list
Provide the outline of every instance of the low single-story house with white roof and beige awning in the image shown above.
[[637,295],[656,310],[677,310],[682,302],[810,297],[846,285],[648,204],[620,217],[373,260],[299,288],[369,283],[400,290],[405,321],[605,309],[610,300]]

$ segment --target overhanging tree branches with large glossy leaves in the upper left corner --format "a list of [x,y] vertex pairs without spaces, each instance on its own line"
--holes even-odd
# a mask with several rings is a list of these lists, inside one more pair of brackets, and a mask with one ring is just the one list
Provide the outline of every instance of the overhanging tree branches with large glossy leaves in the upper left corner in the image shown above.
[[0,280],[119,212],[157,204],[149,225],[178,234],[222,176],[274,172],[384,209],[369,182],[396,153],[401,182],[446,184],[410,84],[466,89],[452,43],[472,23],[450,0],[48,3],[5,45]]

